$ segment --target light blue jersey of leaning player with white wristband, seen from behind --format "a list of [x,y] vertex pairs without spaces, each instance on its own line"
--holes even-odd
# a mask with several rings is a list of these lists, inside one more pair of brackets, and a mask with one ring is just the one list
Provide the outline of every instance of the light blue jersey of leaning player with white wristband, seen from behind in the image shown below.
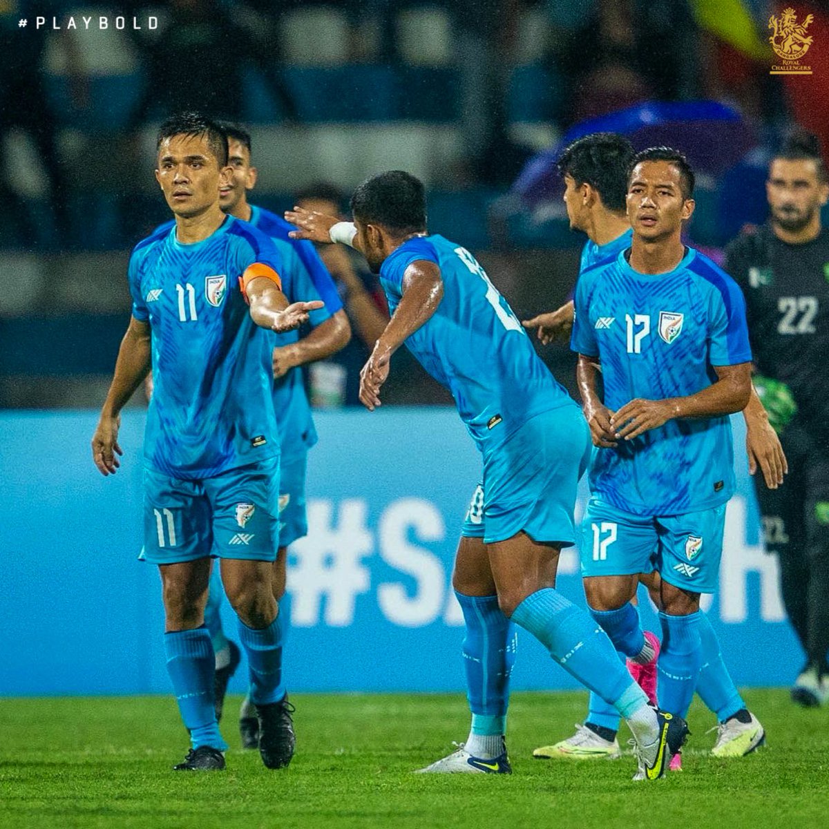
[[536,414],[574,405],[481,265],[443,236],[414,237],[385,259],[380,281],[390,313],[403,295],[405,270],[422,260],[438,265],[444,298],[406,346],[452,392],[482,452],[502,444]]

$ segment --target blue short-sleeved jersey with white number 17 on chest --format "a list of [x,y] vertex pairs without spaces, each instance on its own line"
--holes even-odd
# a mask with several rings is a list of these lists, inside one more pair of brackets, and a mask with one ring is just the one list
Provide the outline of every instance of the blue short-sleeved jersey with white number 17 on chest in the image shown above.
[[[751,361],[743,294],[692,249],[667,274],[639,274],[625,251],[581,274],[571,347],[599,356],[612,411],[695,394],[716,381],[714,366]],[[728,501],[733,466],[727,416],[673,419],[595,450],[590,489],[634,515],[679,515]]]

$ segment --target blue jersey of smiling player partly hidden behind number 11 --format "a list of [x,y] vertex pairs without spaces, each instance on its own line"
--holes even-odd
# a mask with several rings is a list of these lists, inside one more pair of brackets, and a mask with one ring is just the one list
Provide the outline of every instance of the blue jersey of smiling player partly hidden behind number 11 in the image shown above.
[[[342,308],[331,275],[311,242],[291,239],[288,231],[296,230],[280,216],[261,207],[251,206],[250,224],[270,236],[283,260],[282,291],[288,300],[310,302],[322,299],[324,308],[308,314],[312,326],[318,326]],[[299,332],[274,334],[274,346],[298,342]],[[317,443],[317,430],[311,417],[311,406],[303,384],[303,372],[299,367],[274,382],[274,410],[282,436],[282,465],[306,452]]]

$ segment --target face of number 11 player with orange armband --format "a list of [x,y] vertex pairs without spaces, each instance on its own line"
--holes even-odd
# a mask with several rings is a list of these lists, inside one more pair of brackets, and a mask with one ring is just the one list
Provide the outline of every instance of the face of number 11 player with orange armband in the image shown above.
[[198,216],[215,205],[227,174],[204,135],[173,135],[158,148],[156,180],[176,216]]

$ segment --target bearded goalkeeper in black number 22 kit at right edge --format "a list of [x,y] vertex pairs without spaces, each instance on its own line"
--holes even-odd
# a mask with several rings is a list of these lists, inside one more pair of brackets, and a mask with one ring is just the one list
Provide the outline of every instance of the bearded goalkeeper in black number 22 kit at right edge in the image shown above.
[[806,663],[801,705],[829,701],[829,177],[817,139],[797,132],[773,158],[769,217],[726,249],[725,269],[748,308],[754,385],[792,466],[775,490],[755,480],[766,549],[778,556],[783,603]]

